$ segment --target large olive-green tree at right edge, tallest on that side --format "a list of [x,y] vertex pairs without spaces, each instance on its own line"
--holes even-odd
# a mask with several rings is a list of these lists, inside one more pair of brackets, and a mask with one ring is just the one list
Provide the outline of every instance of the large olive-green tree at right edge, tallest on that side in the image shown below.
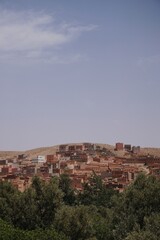
[[160,212],[160,181],[154,176],[140,174],[114,200],[113,236],[115,239],[124,239],[130,232],[137,234],[137,228],[143,230],[145,219],[152,213]]

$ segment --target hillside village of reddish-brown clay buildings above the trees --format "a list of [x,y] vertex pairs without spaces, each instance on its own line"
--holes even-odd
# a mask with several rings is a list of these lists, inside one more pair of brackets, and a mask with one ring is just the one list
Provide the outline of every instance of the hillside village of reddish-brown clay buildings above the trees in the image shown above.
[[[117,154],[121,153],[121,154]],[[30,157],[18,154],[0,158],[0,181],[8,181],[24,192],[36,175],[44,181],[61,174],[69,175],[72,187],[83,190],[93,173],[100,176],[106,188],[119,192],[132,183],[140,172],[160,177],[160,158],[142,154],[140,146],[116,143],[114,151],[92,143],[62,144],[53,154]]]

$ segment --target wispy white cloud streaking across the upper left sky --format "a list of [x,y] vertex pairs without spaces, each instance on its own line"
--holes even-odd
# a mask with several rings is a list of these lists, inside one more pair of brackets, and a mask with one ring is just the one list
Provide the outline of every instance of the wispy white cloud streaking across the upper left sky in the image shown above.
[[57,23],[52,15],[44,12],[0,9],[0,58],[48,57],[51,60],[49,50],[63,46],[95,28],[95,25]]

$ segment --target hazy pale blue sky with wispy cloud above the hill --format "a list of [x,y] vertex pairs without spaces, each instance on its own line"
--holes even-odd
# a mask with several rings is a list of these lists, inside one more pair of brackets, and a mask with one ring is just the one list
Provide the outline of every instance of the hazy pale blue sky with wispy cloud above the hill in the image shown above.
[[160,147],[159,0],[0,0],[0,150]]

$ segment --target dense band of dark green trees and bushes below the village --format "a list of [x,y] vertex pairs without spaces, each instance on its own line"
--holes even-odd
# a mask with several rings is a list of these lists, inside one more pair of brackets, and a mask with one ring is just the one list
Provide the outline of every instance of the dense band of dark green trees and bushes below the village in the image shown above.
[[34,177],[25,192],[0,183],[0,240],[158,240],[160,181],[139,175],[123,193],[93,174],[83,192],[67,175]]

